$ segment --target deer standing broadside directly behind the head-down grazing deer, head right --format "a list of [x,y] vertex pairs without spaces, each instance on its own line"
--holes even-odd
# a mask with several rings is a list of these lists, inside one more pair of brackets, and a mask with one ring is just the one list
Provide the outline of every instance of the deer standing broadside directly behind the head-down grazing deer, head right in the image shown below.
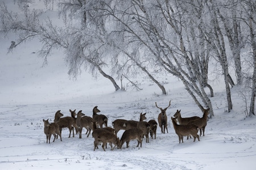
[[[140,114],[139,121],[146,120],[146,113]],[[117,119],[112,122],[112,125],[115,129],[115,135],[117,135],[119,130],[128,130],[131,128],[137,128],[138,121],[135,120],[124,120],[124,119]]]

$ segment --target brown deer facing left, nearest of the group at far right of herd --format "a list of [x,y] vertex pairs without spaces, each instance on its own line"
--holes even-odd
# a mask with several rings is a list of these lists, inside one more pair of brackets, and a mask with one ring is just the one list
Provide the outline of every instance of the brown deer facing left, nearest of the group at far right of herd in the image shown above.
[[199,135],[197,134],[199,131],[198,126],[193,124],[178,125],[176,118],[171,117],[171,120],[172,120],[172,124],[174,125],[175,133],[179,137],[179,143],[180,141],[182,141],[183,143],[183,136],[189,136],[189,135],[192,135],[192,137],[194,137],[193,142],[196,141],[196,138],[198,139],[198,141],[200,141]]

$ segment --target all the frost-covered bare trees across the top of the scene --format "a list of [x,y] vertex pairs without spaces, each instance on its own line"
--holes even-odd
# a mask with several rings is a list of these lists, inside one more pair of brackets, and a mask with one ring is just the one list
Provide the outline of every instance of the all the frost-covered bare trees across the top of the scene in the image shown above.
[[[160,70],[179,78],[201,111],[210,109],[210,117],[214,116],[210,100],[214,89],[208,83],[212,61],[218,68],[215,74],[224,78],[228,112],[230,88],[241,86],[250,91],[247,116],[255,115],[255,1],[44,0],[43,10],[30,8],[34,1],[15,3],[22,14],[0,5],[1,34],[17,35],[9,51],[39,39],[43,45],[38,54],[45,62],[53,49],[61,48],[69,75],[102,74],[115,91],[122,88],[119,80],[144,74],[166,95],[156,74]],[[58,11],[63,23],[40,17],[47,10]]]

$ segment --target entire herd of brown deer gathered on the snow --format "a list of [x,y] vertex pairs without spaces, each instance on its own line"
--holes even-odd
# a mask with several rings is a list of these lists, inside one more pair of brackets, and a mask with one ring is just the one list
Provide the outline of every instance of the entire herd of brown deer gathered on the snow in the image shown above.
[[[149,135],[151,139],[153,137],[156,139],[156,128],[159,125],[161,128],[161,133],[165,134],[166,131],[168,133],[167,128],[167,115],[166,110],[171,105],[171,101],[169,102],[168,107],[162,109],[158,107],[155,103],[156,108],[160,109],[160,113],[158,115],[158,123],[155,120],[146,120],[146,113],[141,113],[139,117],[139,121],[135,120],[124,120],[117,119],[112,122],[113,128],[108,126],[108,117],[104,114],[97,114],[101,112],[98,107],[93,108],[92,117],[85,116],[82,111],[76,113],[76,109],[71,112],[71,117],[63,117],[64,115],[59,111],[55,113],[54,122],[49,123],[49,119],[43,120],[44,122],[44,133],[46,134],[46,143],[50,143],[51,135],[53,135],[54,139],[52,142],[55,142],[55,139],[61,138],[61,131],[63,128],[69,129],[69,138],[71,137],[71,132],[73,133],[73,137],[76,134],[79,134],[79,138],[82,138],[82,129],[86,129],[87,136],[89,137],[92,132],[92,137],[94,138],[94,150],[98,148],[98,145],[102,145],[102,149],[105,151],[107,148],[107,143],[109,143],[111,149],[113,150],[115,147],[122,148],[123,144],[126,142],[126,147],[129,147],[129,142],[131,140],[137,140],[138,146],[142,147],[142,139],[146,138],[146,143],[149,142]],[[193,116],[193,117],[181,117],[180,110],[177,110],[174,114],[174,117],[171,117],[172,124],[174,126],[175,133],[179,137],[180,141],[183,142],[183,137],[187,136],[187,139],[191,136],[196,141],[200,141],[199,135],[197,134],[200,130],[200,136],[203,131],[203,135],[205,132],[205,126],[207,126],[207,118],[209,114],[209,109],[204,109],[204,113],[202,117]],[[117,137],[117,133],[119,130],[125,130],[122,134],[121,139]],[[114,147],[113,147],[114,145]]]

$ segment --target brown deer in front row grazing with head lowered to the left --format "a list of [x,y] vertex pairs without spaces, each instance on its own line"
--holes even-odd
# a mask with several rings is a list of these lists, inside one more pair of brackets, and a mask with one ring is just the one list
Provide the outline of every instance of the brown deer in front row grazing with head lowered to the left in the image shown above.
[[137,147],[139,146],[139,143],[141,143],[141,147],[142,147],[142,136],[143,136],[143,132],[141,129],[138,129],[138,128],[131,128],[131,129],[128,129],[128,130],[125,130],[123,132],[123,135],[120,139],[120,143],[119,143],[119,147],[118,148],[122,148],[123,146],[123,143],[126,142],[126,148],[129,147],[129,142],[133,139],[137,139],[138,141],[138,145]]

